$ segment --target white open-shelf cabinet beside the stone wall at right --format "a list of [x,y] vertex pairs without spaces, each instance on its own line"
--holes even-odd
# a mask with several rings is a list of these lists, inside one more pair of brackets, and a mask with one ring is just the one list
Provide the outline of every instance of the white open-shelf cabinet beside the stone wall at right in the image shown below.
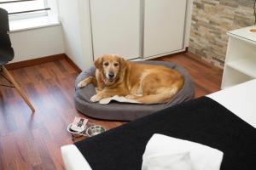
[[256,26],[230,31],[222,89],[256,78]]

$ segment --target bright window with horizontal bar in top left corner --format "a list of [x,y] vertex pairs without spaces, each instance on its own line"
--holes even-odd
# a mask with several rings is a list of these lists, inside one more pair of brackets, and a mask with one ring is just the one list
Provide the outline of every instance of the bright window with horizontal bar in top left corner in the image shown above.
[[0,8],[9,12],[9,20],[47,16],[47,0],[0,0]]

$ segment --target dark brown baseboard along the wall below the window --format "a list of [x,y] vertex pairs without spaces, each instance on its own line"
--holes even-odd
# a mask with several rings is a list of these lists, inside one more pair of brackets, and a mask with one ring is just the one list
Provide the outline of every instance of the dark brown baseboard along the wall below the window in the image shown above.
[[60,59],[66,59],[66,55],[65,54],[55,54],[55,55],[50,55],[47,57],[41,57],[38,59],[28,59],[25,61],[9,63],[9,64],[5,65],[5,67],[8,70],[15,70],[15,69],[20,69],[20,68],[27,67],[27,66],[40,65],[43,63],[56,61],[56,60],[60,60]]

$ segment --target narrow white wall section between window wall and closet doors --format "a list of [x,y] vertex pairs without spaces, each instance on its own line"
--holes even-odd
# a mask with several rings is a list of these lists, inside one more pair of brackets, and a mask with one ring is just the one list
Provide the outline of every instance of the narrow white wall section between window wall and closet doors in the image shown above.
[[66,54],[84,70],[92,65],[89,3],[86,0],[59,0]]

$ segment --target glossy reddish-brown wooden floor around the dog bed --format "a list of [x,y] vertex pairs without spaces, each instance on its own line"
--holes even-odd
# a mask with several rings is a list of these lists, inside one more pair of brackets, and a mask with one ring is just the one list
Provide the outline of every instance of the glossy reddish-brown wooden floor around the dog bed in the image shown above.
[[[222,70],[189,56],[176,54],[158,60],[183,65],[195,82],[195,97],[218,91]],[[62,59],[11,73],[25,89],[36,112],[31,113],[15,89],[0,88],[0,169],[64,169],[60,147],[73,143],[67,125],[74,116],[82,116],[73,105],[78,72]],[[122,124],[90,121],[108,129]]]

